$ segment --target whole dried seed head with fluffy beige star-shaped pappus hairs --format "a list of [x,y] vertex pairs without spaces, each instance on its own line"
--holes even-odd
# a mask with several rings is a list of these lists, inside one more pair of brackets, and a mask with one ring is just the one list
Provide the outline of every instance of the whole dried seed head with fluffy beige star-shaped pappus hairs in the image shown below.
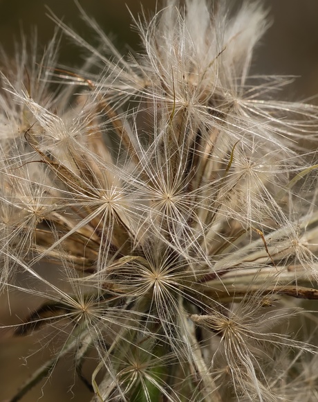
[[2,55],[0,290],[37,301],[2,328],[50,349],[12,402],[65,356],[92,402],[317,401],[318,107],[250,75],[267,10],[229,3],[135,16],[127,55],[77,4],[99,44],[51,13]]

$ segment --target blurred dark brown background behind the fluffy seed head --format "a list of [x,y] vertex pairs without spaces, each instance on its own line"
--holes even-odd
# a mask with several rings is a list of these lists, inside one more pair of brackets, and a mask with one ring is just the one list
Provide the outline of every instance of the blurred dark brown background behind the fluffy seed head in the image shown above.
[[[236,0],[232,0],[236,1]],[[231,2],[231,0],[230,0]],[[125,44],[138,49],[138,34],[130,30],[131,17],[128,8],[136,15],[140,11],[139,0],[82,0],[82,6],[104,28],[106,33],[113,33],[115,42],[124,51]],[[241,3],[237,0],[236,3]],[[144,0],[144,8],[154,10],[156,0]],[[273,24],[263,37],[261,46],[256,51],[252,66],[253,73],[288,74],[299,76],[295,82],[286,88],[281,97],[288,100],[311,98],[318,104],[318,1],[314,0],[264,0],[265,7],[270,9],[270,19]],[[84,37],[93,37],[79,19],[79,11],[72,0],[0,0],[0,42],[8,53],[14,54],[14,42],[21,37],[21,28],[26,34],[37,26],[39,42],[45,44],[53,35],[54,23],[47,16],[46,6],[53,10],[57,17],[63,17],[64,22],[73,26]],[[60,52],[63,64],[80,63],[80,53],[75,46],[67,41],[62,44]],[[19,304],[19,301],[17,301]],[[16,318],[8,318],[6,300],[0,308],[1,324],[16,322]],[[24,308],[28,303],[21,300]],[[14,307],[14,306],[13,306]],[[12,311],[14,308],[12,308]],[[2,313],[1,313],[2,311]],[[14,313],[15,314],[15,313]],[[34,338],[3,339],[0,342],[0,401],[8,399],[17,387],[28,378],[32,369],[43,362],[48,353],[37,353],[28,360],[27,365],[20,356],[35,347]],[[36,349],[39,345],[36,345]],[[71,358],[71,356],[70,356]],[[67,359],[66,359],[67,360]],[[71,360],[71,359],[70,359]],[[46,387],[43,402],[66,402],[73,398],[68,392],[74,380],[74,372],[67,361],[62,362]],[[37,385],[23,402],[34,402],[41,397],[41,385]],[[89,401],[91,394],[84,385],[75,381],[73,401]]]

